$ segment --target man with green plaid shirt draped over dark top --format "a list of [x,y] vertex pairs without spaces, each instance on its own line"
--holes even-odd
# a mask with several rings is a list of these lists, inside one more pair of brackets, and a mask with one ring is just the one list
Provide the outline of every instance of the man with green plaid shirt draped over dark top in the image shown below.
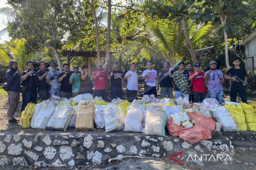
[[178,63],[178,67],[180,70],[171,74],[171,77],[173,78],[173,81],[176,85],[175,99],[177,99],[180,96],[189,98],[190,89],[188,85],[188,77],[190,72],[188,70],[185,70],[185,64],[183,61]]

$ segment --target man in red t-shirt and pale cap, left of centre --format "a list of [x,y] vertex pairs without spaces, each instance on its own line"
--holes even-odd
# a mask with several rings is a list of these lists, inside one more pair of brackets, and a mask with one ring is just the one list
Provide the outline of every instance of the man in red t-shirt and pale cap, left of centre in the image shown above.
[[97,64],[98,70],[96,72],[93,72],[93,80],[95,83],[95,96],[102,97],[103,100],[107,101],[107,87],[106,87],[106,81],[108,81],[107,73],[102,71],[102,64],[99,62]]

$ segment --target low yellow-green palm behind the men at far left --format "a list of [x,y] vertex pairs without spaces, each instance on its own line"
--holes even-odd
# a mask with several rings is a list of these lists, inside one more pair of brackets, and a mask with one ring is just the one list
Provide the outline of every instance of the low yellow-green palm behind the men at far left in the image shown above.
[[48,57],[47,50],[45,49],[41,53],[36,52],[33,54],[27,54],[25,51],[25,42],[24,40],[15,40],[6,44],[5,47],[2,45],[0,48],[0,65],[9,66],[9,61],[14,59],[17,61],[18,70],[23,72],[27,69],[26,63],[29,60],[38,60],[52,62],[53,58]]

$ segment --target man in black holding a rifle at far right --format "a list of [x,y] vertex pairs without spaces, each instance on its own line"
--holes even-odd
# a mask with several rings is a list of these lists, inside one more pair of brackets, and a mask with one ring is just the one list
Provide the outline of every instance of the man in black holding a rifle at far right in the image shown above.
[[241,97],[243,103],[247,103],[246,96],[246,86],[247,86],[247,73],[245,68],[241,68],[241,59],[239,57],[233,58],[233,64],[235,67],[232,67],[228,70],[227,74],[224,76],[224,79],[232,80],[231,89],[230,89],[230,101],[236,102],[237,93]]

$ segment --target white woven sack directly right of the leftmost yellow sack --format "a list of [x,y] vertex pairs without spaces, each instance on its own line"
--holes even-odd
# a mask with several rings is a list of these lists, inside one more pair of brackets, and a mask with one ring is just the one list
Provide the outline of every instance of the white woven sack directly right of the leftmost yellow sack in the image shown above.
[[35,105],[35,110],[31,118],[30,127],[34,129],[45,129],[46,125],[55,111],[55,106],[50,100],[43,101]]

